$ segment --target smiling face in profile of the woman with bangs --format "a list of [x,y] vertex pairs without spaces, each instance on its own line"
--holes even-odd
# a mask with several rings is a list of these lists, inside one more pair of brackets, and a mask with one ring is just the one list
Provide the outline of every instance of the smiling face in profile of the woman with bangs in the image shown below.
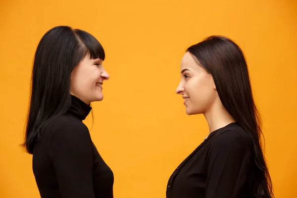
[[71,73],[70,94],[89,104],[103,99],[102,84],[109,75],[102,66],[102,59],[91,59],[87,54]]

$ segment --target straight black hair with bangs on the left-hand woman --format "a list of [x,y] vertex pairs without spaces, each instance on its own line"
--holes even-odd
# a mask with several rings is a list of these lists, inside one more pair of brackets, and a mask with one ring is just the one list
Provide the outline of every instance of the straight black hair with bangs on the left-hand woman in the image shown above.
[[83,30],[69,26],[50,29],[35,52],[31,97],[22,147],[33,154],[34,144],[47,124],[64,114],[71,105],[70,76],[86,56],[101,58],[105,53],[98,40]]

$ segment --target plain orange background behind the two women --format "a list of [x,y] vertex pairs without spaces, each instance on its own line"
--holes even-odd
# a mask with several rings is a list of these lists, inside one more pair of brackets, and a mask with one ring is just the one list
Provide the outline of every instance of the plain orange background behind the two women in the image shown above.
[[[1,0],[0,198],[40,197],[32,155],[18,145],[34,52],[57,25],[86,30],[105,49],[110,80],[93,103],[91,136],[114,172],[115,198],[165,198],[169,176],[207,135],[174,91],[185,49],[213,34],[244,50],[276,198],[295,198],[296,10],[296,0]],[[91,129],[91,117],[85,123]]]

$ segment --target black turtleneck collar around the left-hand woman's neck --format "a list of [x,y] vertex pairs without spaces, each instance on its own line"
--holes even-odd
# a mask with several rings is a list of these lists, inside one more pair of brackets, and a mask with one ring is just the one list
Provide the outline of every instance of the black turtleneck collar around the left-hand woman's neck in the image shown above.
[[83,121],[89,115],[92,107],[81,99],[71,95],[71,106],[68,112]]

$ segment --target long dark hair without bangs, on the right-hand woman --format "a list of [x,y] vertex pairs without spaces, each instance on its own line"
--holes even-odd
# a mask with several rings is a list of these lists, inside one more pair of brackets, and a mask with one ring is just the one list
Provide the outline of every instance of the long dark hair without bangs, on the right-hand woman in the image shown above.
[[252,96],[243,51],[223,36],[210,36],[187,51],[198,65],[212,75],[223,106],[252,140],[255,168],[249,181],[251,193],[256,198],[273,198],[272,182],[261,144],[261,118]]

